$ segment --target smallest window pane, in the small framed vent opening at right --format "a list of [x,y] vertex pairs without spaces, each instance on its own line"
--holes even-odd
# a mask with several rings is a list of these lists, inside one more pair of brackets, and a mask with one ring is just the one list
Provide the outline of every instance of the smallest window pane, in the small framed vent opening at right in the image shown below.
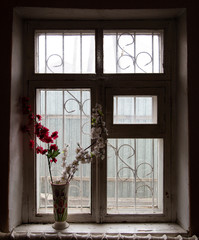
[[157,96],[114,96],[114,124],[156,124]]

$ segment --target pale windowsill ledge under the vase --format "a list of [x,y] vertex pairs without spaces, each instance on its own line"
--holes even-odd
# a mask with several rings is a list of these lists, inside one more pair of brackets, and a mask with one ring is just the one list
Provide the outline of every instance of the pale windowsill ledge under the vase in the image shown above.
[[[22,224],[13,230],[14,235],[20,234],[53,234],[57,233],[55,229],[52,228],[52,224]],[[182,227],[175,223],[70,223],[70,226],[62,230],[63,234],[94,234],[94,235],[168,235],[186,236],[188,233]]]

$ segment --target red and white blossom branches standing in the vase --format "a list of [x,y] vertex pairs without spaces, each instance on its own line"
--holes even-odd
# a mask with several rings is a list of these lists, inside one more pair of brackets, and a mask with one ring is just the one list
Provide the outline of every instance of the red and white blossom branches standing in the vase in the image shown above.
[[[58,138],[58,132],[50,133],[50,130],[41,124],[41,116],[34,114],[31,105],[29,104],[29,98],[24,97],[22,99],[23,113],[28,117],[28,123],[22,127],[23,132],[27,133],[30,137],[29,146],[31,149],[36,150],[37,154],[45,155],[48,161],[50,179],[53,183],[51,165],[57,162],[57,156],[61,154],[60,148],[57,146],[56,139]],[[94,159],[104,159],[105,158],[105,145],[106,137],[108,131],[103,120],[102,106],[96,104],[95,108],[92,109],[91,117],[91,145],[83,149],[79,143],[77,143],[76,158],[71,164],[67,164],[67,152],[68,145],[65,145],[63,149],[62,157],[62,167],[63,172],[60,180],[56,181],[59,183],[69,183],[80,163],[90,163]],[[35,139],[38,138],[41,142],[46,143],[46,148],[44,149],[40,146]],[[91,151],[89,152],[89,149]]]

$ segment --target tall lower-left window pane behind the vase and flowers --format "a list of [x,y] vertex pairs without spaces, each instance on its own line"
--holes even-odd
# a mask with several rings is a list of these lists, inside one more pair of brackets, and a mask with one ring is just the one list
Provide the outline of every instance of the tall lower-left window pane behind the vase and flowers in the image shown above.
[[[42,124],[50,132],[58,131],[57,144],[62,151],[69,145],[68,163],[75,160],[77,143],[83,148],[90,145],[91,106],[89,89],[38,90],[37,113],[42,116]],[[44,143],[38,142],[39,145]],[[52,164],[52,175],[60,177],[62,154],[57,163]],[[37,211],[52,213],[52,191],[46,156],[37,155]],[[90,213],[91,166],[80,164],[69,188],[69,213]]]

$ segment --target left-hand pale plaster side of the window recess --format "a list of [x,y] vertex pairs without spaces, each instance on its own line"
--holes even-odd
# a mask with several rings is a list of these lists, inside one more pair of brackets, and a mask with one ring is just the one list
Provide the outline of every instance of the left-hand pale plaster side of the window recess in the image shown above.
[[20,97],[23,94],[22,77],[22,22],[13,16],[11,119],[10,119],[10,172],[9,172],[9,230],[21,223],[23,189],[23,135],[21,132]]

